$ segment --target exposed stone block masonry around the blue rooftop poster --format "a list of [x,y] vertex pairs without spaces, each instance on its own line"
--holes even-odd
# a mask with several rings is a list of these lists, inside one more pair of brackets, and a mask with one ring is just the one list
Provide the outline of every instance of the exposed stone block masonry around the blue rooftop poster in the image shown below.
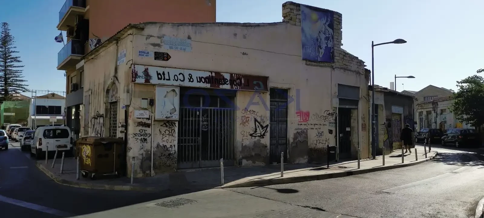
[[[312,7],[312,6],[308,5],[308,7]],[[327,9],[317,8],[317,7],[313,7],[313,8],[321,11],[331,11]],[[341,26],[342,15],[341,13],[338,13],[335,11],[331,11],[331,12],[333,12],[333,21],[334,21],[334,27],[333,27],[334,63],[320,63],[320,62],[312,62],[312,61],[306,60],[306,64],[312,65],[312,66],[340,68],[340,69],[362,73],[362,74],[365,73],[364,61],[341,48],[341,46],[343,45],[342,44],[343,31]],[[288,22],[289,24],[292,24],[295,26],[301,26],[301,4],[292,2],[292,1],[286,1],[285,3],[283,3],[282,17],[283,17],[282,19],[283,22]]]

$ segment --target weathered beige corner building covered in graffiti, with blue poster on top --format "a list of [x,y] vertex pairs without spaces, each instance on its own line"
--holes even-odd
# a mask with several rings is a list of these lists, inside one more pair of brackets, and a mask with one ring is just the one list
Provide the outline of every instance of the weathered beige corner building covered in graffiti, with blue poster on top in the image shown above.
[[369,157],[369,72],[342,15],[283,4],[278,23],[131,24],[84,56],[83,136],[123,137],[136,176]]

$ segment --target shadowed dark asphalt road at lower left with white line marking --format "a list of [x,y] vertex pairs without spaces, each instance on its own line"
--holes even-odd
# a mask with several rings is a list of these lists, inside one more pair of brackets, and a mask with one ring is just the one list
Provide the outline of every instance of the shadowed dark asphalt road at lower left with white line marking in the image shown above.
[[41,172],[30,160],[28,152],[22,152],[15,146],[19,144],[11,143],[8,150],[0,150],[1,218],[70,217],[181,194],[82,189],[61,185]]

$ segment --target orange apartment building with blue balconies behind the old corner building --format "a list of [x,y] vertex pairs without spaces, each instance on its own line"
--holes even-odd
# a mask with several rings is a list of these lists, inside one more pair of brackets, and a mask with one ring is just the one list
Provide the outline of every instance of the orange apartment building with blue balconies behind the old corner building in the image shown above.
[[80,136],[85,54],[129,23],[215,22],[215,6],[216,0],[66,0],[57,29],[65,31],[67,40],[58,53],[57,70],[66,71],[67,125],[74,134]]

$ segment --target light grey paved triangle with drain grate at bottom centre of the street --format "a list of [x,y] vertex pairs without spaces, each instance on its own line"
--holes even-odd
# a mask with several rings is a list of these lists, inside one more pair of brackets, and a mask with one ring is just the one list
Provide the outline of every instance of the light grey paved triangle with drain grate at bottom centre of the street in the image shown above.
[[294,204],[210,189],[79,216],[79,218],[354,218]]

